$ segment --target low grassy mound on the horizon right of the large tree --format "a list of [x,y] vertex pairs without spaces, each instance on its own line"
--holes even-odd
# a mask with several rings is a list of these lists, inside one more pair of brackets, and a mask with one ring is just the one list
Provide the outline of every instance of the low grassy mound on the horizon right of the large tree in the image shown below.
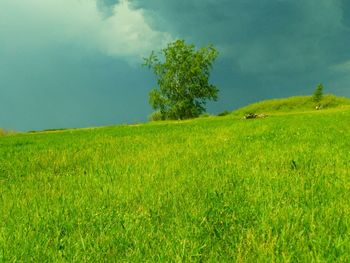
[[[322,109],[336,109],[350,107],[350,99],[325,95],[321,101]],[[272,99],[253,103],[233,112],[234,115],[244,115],[247,113],[287,113],[314,111],[315,102],[312,96],[296,96],[284,99]]]

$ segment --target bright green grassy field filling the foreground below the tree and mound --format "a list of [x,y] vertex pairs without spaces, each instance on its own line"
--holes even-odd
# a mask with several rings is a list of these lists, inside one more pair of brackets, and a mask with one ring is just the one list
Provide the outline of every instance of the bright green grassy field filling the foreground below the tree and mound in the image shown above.
[[350,261],[350,108],[0,138],[1,261]]

